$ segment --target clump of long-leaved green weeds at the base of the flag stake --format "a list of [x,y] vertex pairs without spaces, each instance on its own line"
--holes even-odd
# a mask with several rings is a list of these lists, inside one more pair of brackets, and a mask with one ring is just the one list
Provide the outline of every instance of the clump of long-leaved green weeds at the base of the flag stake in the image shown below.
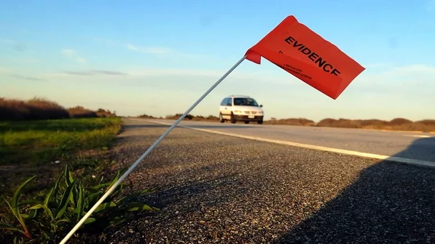
[[[93,180],[86,184],[80,179],[73,179],[72,174],[65,167],[55,185],[46,194],[43,201],[19,201],[21,190],[35,176],[24,181],[12,196],[12,200],[4,199],[10,210],[10,218],[6,223],[0,223],[0,229],[18,232],[21,236],[15,236],[18,241],[31,240],[37,243],[57,242],[90,210],[101,196],[110,188],[125,170],[117,171],[111,181],[103,182],[104,177]],[[121,192],[129,186],[121,183],[115,191],[104,200],[93,214],[86,219],[84,225],[76,232],[79,235],[95,234],[103,232],[110,227],[124,223],[131,218],[128,212],[154,212],[159,210],[144,203],[131,202],[131,199],[151,192],[146,189],[128,194],[124,197]],[[27,207],[32,205],[31,207]],[[14,224],[12,218],[18,221]]]

